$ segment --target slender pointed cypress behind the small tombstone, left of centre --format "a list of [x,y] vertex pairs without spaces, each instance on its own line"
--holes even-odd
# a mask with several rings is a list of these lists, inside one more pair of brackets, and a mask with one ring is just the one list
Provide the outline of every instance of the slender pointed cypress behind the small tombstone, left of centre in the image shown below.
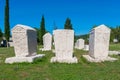
[[46,30],[45,30],[45,19],[44,19],[44,16],[42,16],[41,23],[40,23],[40,31],[39,31],[40,45],[43,45],[43,35],[45,33],[46,33]]

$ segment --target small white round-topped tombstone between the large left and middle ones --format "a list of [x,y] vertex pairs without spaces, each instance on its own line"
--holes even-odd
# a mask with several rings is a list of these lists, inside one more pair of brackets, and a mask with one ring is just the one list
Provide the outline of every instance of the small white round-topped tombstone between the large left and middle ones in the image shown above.
[[43,46],[44,46],[44,48],[42,49],[43,51],[51,50],[51,47],[52,47],[52,35],[50,33],[46,33],[43,36]]

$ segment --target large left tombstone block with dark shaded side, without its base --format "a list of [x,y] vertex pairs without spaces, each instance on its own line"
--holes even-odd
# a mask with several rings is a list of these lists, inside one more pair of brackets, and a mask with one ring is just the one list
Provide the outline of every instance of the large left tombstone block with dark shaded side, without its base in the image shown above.
[[35,55],[37,50],[36,30],[23,25],[12,29],[12,38],[16,56]]

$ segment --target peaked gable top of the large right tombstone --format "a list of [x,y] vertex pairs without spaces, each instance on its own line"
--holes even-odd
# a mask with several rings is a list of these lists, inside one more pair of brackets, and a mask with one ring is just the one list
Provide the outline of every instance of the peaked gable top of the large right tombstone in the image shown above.
[[98,27],[93,28],[91,32],[93,32],[93,31],[109,33],[110,32],[110,28],[108,28],[107,26],[102,24],[102,25],[99,25]]

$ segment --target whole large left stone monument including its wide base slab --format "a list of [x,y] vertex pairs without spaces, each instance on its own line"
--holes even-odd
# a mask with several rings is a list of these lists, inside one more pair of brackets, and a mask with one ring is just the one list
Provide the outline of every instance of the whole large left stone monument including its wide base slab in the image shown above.
[[44,56],[44,54],[36,54],[37,36],[35,29],[18,24],[12,29],[12,39],[15,57],[7,58],[5,63],[33,62],[35,58]]

